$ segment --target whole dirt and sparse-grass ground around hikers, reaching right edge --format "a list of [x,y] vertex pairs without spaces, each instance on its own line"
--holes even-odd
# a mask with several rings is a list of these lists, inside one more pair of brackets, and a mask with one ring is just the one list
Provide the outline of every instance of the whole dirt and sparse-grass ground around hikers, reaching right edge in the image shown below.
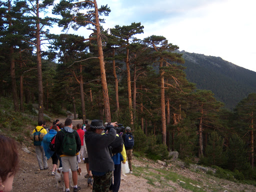
[[[60,122],[64,123],[65,118],[59,118]],[[72,120],[73,125],[77,123],[82,123],[81,119]],[[48,191],[56,191],[61,192],[61,188],[56,187],[55,177],[52,176],[52,161],[51,158],[48,159],[48,167],[47,170],[39,170],[36,155],[34,152],[34,146],[32,145],[32,141],[28,138],[24,137],[25,142],[30,142],[30,147],[27,147],[30,153],[25,152],[22,148],[25,146],[19,145],[19,166],[20,169],[14,177],[13,180],[13,192],[48,192]],[[178,161],[179,162],[179,161]],[[188,192],[190,190],[185,189],[177,180],[178,179],[166,179],[161,172],[158,172],[157,169],[168,169],[171,172],[177,173],[178,178],[188,178],[198,182],[200,186],[204,189],[196,189],[193,191],[256,191],[256,187],[253,185],[241,184],[231,182],[225,179],[219,179],[213,176],[205,176],[205,173],[200,173],[195,170],[189,170],[180,167],[178,164],[168,164],[168,167],[164,167],[161,164],[158,164],[149,159],[140,159],[137,160],[135,157],[132,160],[133,165],[133,174],[126,174],[126,176],[121,175],[121,183],[119,191],[141,191],[141,192],[167,192],[167,191],[176,191],[176,192]],[[173,162],[175,163],[175,161]],[[84,178],[86,172],[85,163],[81,162],[78,166],[82,170],[82,174],[78,175],[78,185],[81,186],[80,192],[91,191],[89,187],[87,187],[87,179]],[[144,168],[143,168],[144,167]],[[148,169],[149,167],[149,169]],[[149,171],[154,172],[154,181],[150,183],[150,174]],[[139,175],[139,176],[138,176]],[[144,177],[144,178],[143,178]],[[147,179],[145,179],[147,178]],[[190,182],[190,181],[188,181]],[[164,184],[165,183],[165,184]],[[167,184],[166,184],[167,183]],[[189,183],[190,184],[190,183]],[[70,187],[70,191],[73,189]]]

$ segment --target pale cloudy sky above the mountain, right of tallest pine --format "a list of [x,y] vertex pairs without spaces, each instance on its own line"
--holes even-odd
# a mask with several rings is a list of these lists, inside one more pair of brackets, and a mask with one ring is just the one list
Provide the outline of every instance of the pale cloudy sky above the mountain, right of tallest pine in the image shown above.
[[[256,71],[256,0],[97,0],[103,27],[141,22],[143,39],[162,35],[179,50],[220,56]],[[84,31],[84,28],[82,29]]]

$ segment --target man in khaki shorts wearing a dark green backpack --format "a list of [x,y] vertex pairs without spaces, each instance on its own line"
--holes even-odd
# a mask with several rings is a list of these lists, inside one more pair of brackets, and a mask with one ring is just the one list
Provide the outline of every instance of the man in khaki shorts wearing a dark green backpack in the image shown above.
[[63,129],[57,132],[55,137],[55,149],[60,155],[62,163],[62,172],[64,177],[65,191],[69,192],[69,165],[72,171],[73,192],[80,191],[81,187],[77,185],[77,160],[76,155],[81,148],[81,141],[76,130],[72,129],[72,120],[65,120]]

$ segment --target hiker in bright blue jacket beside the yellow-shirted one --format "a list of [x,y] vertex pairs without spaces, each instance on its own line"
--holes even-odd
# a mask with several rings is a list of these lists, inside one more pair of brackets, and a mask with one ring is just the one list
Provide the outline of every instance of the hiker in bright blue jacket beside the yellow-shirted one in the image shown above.
[[[57,134],[58,127],[56,125],[52,125],[51,129],[47,134],[44,135],[43,140],[42,140],[42,146],[43,150],[45,153],[45,156],[47,159],[51,157],[52,159],[52,170],[51,170],[51,175],[55,175],[56,169],[57,169],[57,164],[58,164],[58,157],[55,151],[50,150],[49,144],[52,139]],[[61,161],[59,162],[61,164]],[[61,166],[61,165],[60,165]]]

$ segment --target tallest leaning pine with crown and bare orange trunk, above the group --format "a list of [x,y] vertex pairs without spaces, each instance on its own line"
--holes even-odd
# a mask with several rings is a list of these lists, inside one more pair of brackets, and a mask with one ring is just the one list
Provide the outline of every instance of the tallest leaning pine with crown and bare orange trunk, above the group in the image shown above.
[[[100,22],[104,22],[104,20],[100,19],[99,15],[108,15],[109,12],[110,9],[107,5],[98,8],[96,0],[61,0],[53,8],[54,14],[60,14],[62,16],[58,25],[62,26],[64,30],[68,29],[70,26],[75,30],[81,26],[89,26],[89,29],[94,33],[94,36],[92,35],[84,40],[96,40],[104,101],[104,113],[107,122],[111,121],[111,114],[100,33]],[[92,28],[90,28],[91,25]]]

